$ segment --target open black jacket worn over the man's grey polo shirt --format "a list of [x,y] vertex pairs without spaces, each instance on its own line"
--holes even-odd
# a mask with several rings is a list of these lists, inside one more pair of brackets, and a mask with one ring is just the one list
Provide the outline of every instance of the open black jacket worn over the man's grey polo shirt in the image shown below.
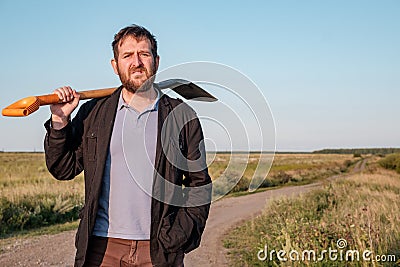
[[[44,149],[50,173],[56,179],[69,180],[84,171],[85,205],[75,239],[75,266],[85,262],[95,224],[120,93],[121,88],[109,97],[86,102],[61,130],[52,129],[50,120],[45,123]],[[179,99],[162,95],[151,203],[150,254],[154,266],[171,266],[179,253],[200,244],[211,202],[211,179],[202,141],[201,125],[193,109]]]

